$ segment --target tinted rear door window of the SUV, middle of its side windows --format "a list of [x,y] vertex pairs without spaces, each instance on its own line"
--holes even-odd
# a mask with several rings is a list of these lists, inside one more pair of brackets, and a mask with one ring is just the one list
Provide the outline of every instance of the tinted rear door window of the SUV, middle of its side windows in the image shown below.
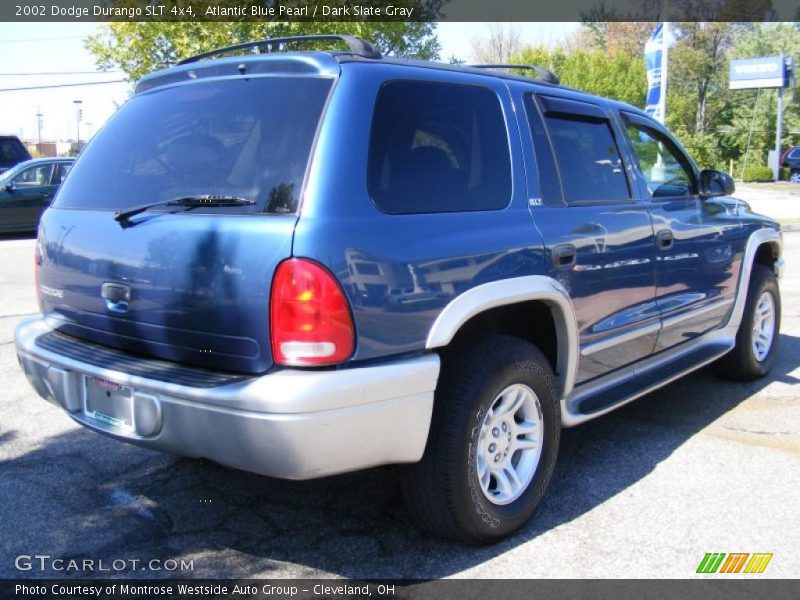
[[547,116],[567,202],[628,200],[617,143],[605,119]]

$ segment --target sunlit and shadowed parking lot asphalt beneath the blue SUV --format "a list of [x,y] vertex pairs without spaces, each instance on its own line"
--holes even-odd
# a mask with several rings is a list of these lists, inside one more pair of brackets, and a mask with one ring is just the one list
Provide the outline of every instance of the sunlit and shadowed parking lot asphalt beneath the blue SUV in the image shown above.
[[[14,327],[36,311],[33,240],[2,237],[0,577],[685,578],[707,552],[770,552],[759,577],[797,577],[800,232],[785,243],[769,377],[731,383],[704,369],[566,430],[533,521],[476,548],[419,532],[393,467],[286,482],[74,424],[35,396],[17,364]],[[95,568],[102,559],[109,571],[17,559],[35,554]]]

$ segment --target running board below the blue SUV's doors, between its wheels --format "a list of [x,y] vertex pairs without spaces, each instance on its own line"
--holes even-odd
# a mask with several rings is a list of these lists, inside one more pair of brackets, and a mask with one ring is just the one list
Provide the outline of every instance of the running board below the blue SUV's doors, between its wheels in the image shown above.
[[686,347],[668,350],[639,365],[578,386],[570,398],[562,401],[563,424],[571,427],[604,415],[715,361],[735,344],[735,333],[731,336],[723,332],[718,330]]

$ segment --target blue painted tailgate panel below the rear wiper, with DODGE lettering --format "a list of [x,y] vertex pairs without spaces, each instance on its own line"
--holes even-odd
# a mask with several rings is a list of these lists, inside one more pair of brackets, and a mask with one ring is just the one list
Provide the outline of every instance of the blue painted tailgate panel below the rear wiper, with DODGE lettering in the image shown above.
[[[269,292],[296,217],[148,213],[122,228],[108,211],[50,209],[39,229],[42,294],[59,330],[166,360],[230,371],[272,365]],[[104,283],[131,288],[109,311]]]

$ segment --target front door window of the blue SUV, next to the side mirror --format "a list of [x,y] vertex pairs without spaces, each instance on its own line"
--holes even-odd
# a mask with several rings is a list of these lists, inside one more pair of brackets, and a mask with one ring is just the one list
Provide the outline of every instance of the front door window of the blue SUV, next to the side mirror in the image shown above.
[[692,179],[683,161],[661,134],[639,125],[627,126],[633,153],[639,162],[647,189],[653,198],[673,198],[692,194]]

